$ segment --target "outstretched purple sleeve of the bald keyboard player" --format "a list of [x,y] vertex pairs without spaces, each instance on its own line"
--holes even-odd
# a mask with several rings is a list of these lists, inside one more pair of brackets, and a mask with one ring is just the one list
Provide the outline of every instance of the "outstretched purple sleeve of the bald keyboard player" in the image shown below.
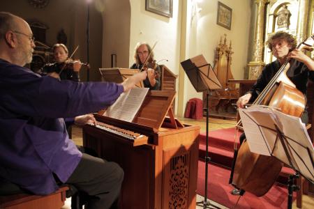
[[110,106],[124,91],[121,84],[109,82],[78,83],[30,72],[21,74],[19,79],[6,80],[3,102],[23,116],[70,118],[88,114]]

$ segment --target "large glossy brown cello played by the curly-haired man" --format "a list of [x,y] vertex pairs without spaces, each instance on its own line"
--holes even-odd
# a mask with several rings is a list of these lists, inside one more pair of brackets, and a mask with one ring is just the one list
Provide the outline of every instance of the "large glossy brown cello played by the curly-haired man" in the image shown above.
[[[314,36],[312,35],[301,42],[297,49],[308,49],[313,45]],[[289,68],[289,61],[283,63],[253,104],[278,108],[285,114],[300,117],[306,107],[306,98],[287,77]],[[241,121],[237,126],[240,123]],[[241,144],[239,153],[235,156],[237,156],[237,160],[230,177],[232,185],[256,196],[262,196],[269,191],[283,167],[283,163],[275,157],[251,153],[246,141]]]

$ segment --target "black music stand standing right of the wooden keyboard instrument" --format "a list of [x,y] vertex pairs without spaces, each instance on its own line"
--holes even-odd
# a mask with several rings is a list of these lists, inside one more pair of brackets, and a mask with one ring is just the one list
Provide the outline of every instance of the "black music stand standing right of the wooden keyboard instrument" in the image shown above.
[[[208,133],[209,133],[209,90],[220,89],[221,84],[218,81],[218,78],[209,63],[204,59],[204,56],[201,54],[195,56],[191,59],[181,62],[182,68],[188,75],[188,79],[194,86],[197,92],[207,91],[206,96],[206,157],[205,157],[205,196],[204,201],[202,201],[203,208],[207,208],[210,205],[207,201],[207,176],[208,176],[208,164],[210,161],[209,151],[208,151]],[[215,207],[216,208],[216,207]]]

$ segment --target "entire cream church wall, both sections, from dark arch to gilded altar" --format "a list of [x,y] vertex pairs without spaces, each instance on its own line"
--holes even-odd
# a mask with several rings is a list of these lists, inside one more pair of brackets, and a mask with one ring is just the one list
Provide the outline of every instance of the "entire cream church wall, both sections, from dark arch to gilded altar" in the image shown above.
[[[232,74],[234,79],[243,79],[246,64],[248,63],[248,41],[251,26],[251,1],[241,0],[220,1],[232,8],[231,30],[225,29],[216,24],[218,1],[196,1],[188,0],[186,2],[173,1],[173,15],[171,18],[151,13],[145,10],[145,3],[142,0],[130,1],[131,20],[130,20],[130,56],[129,64],[133,63],[134,46],[139,41],[149,42],[154,45],[156,61],[167,59],[163,63],[174,72],[174,74],[183,76],[180,79],[184,84],[179,83],[177,79],[176,104],[177,114],[182,116],[186,102],[190,98],[202,98],[202,93],[196,93],[190,84],[184,71],[179,70],[180,62],[198,54],[203,54],[208,63],[214,65],[214,49],[218,45],[220,37],[227,34],[228,42],[232,40]],[[184,8],[186,6],[186,8]],[[181,14],[186,10],[186,31],[181,31]],[[182,34],[185,33],[185,34]],[[185,48],[182,47],[182,38]],[[181,48],[182,47],[182,48]],[[180,55],[180,50],[185,50],[185,56]],[[183,74],[183,75],[182,75]],[[183,98],[178,98],[181,95]]]

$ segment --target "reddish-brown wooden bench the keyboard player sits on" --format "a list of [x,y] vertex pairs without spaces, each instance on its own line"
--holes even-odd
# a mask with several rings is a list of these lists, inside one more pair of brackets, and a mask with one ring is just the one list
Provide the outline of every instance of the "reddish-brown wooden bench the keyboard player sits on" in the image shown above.
[[0,196],[0,208],[4,209],[56,209],[66,201],[68,186],[60,187],[56,192],[45,196],[34,194],[12,194]]

